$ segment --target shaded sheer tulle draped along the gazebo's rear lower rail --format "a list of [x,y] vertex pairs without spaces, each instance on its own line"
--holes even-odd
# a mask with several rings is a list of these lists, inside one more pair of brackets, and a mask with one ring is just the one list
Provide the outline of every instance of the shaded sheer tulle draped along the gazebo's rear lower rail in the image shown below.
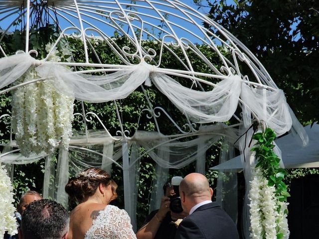
[[[222,137],[228,138],[230,142],[236,140],[236,129],[228,127],[223,123],[201,127],[191,140],[178,139],[165,136],[159,132],[137,131],[132,138],[128,138],[130,150],[129,169],[124,174],[129,177],[129,191],[124,191],[125,197],[129,197],[129,205],[126,210],[131,217],[132,225],[136,225],[136,205],[139,183],[139,169],[141,158],[140,148],[143,147],[157,163],[157,176],[153,182],[150,209],[159,207],[162,196],[162,186],[168,177],[169,168],[182,168],[196,161],[196,171],[202,171],[202,163],[205,162],[203,155],[216,141]],[[29,160],[19,161],[19,153],[11,153],[10,160],[4,155],[0,161],[6,163],[31,163],[45,158],[45,171],[43,180],[44,198],[52,198],[65,207],[68,207],[68,197],[64,187],[69,177],[76,176],[80,171],[88,167],[101,167],[112,174],[112,165],[117,164],[123,169],[122,147],[120,137],[113,137],[107,131],[88,131],[88,134],[72,136],[69,150],[61,148],[58,157],[53,154],[37,155]],[[16,157],[17,159],[14,159]],[[200,166],[198,166],[200,165]],[[199,168],[198,168],[199,167]],[[127,188],[127,187],[124,187]],[[126,190],[126,189],[125,189]]]

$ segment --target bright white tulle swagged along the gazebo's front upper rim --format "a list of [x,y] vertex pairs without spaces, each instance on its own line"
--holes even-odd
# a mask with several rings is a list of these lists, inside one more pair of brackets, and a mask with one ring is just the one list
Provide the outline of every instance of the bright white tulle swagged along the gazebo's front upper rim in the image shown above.
[[279,89],[255,88],[241,76],[232,74],[211,84],[211,91],[190,89],[144,61],[138,65],[122,66],[112,74],[93,76],[21,53],[0,59],[0,88],[14,84],[31,65],[37,66],[35,70],[41,77],[39,80],[52,80],[58,92],[81,101],[99,103],[124,99],[143,83],[150,86],[153,82],[194,122],[225,122],[234,115],[240,103],[245,124],[250,124],[253,116],[265,121],[278,136],[292,125],[289,106]]

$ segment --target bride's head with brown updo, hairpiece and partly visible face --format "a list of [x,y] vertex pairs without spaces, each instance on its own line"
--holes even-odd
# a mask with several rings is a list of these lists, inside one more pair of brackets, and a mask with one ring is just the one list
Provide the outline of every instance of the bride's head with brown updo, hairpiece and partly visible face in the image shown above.
[[79,203],[97,195],[104,204],[116,199],[117,184],[101,168],[88,168],[77,177],[72,177],[65,185],[65,192]]

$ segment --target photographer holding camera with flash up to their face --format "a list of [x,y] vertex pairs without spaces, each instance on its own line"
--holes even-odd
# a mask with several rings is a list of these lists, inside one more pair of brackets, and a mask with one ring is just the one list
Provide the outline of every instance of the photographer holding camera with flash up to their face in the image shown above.
[[[177,199],[181,179],[181,177],[173,177],[172,182],[167,180],[164,184],[164,197],[161,199],[160,209],[152,211],[146,218],[145,224],[136,234],[138,239],[173,239],[175,237],[177,225],[174,222],[187,216],[179,206],[179,198]],[[173,184],[177,186],[175,191]],[[171,201],[173,201],[172,204]]]

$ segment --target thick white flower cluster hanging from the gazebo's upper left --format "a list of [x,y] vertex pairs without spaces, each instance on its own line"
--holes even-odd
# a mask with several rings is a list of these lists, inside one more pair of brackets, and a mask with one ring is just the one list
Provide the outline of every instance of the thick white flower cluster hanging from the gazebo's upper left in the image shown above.
[[[46,46],[47,52],[51,44]],[[67,48],[54,48],[49,60],[61,61],[71,55]],[[16,84],[39,79],[32,66]],[[24,156],[35,153],[52,153],[58,145],[68,148],[72,135],[74,98],[57,92],[54,80],[39,81],[17,88],[12,94],[12,129],[15,140]]]

